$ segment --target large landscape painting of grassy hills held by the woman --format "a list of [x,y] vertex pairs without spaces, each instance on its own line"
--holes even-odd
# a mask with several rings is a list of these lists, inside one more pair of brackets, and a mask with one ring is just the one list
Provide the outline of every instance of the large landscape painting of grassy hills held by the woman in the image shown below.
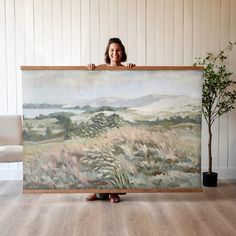
[[24,189],[201,188],[201,70],[23,69],[22,80]]

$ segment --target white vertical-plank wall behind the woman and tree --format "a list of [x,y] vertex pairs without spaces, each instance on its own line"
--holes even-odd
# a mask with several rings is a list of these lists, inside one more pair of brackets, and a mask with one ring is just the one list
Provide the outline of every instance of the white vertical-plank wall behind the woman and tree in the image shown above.
[[[103,63],[109,37],[137,65],[192,65],[236,41],[236,0],[0,0],[0,35],[0,114],[22,114],[21,65]],[[236,74],[236,49],[229,66]],[[236,111],[216,122],[213,142],[220,177],[236,178]],[[203,168],[206,156],[204,122]],[[0,178],[21,174],[0,166]]]

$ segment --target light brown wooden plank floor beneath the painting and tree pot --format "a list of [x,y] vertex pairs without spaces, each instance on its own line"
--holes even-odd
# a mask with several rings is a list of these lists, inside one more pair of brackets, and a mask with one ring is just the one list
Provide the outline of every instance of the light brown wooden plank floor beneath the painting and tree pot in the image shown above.
[[0,181],[0,235],[236,235],[236,180],[200,193],[130,193],[118,204],[86,196],[23,194],[21,181]]

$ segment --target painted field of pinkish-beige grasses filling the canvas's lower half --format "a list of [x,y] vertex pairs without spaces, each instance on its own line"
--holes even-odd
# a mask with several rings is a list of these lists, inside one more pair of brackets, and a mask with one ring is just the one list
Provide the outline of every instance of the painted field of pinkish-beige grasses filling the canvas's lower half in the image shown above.
[[128,125],[24,142],[25,189],[200,187],[200,125]]

